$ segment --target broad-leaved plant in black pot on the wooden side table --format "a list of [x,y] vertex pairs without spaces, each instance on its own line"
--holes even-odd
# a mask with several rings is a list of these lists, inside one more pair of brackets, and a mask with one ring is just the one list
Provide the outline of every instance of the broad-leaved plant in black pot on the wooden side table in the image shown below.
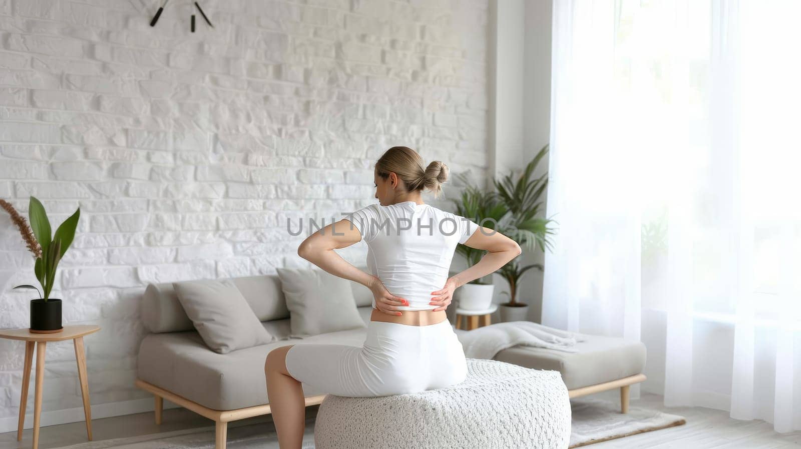
[[33,253],[34,275],[42,285],[44,295],[37,287],[32,285],[18,285],[14,287],[35,290],[39,294],[38,299],[30,300],[30,331],[34,333],[54,333],[63,330],[61,324],[61,299],[50,298],[50,291],[55,282],[55,273],[58,262],[64,256],[67,248],[70,247],[75,236],[75,228],[78,227],[78,217],[81,209],[66,218],[56,229],[55,234],[51,235],[50,220],[47,219],[42,202],[33,196],[30,197],[28,206],[28,217],[30,227],[25,218],[20,215],[14,206],[9,202],[0,200],[0,206],[11,215],[11,220],[18,227],[22,239],[26,242],[28,249]]

